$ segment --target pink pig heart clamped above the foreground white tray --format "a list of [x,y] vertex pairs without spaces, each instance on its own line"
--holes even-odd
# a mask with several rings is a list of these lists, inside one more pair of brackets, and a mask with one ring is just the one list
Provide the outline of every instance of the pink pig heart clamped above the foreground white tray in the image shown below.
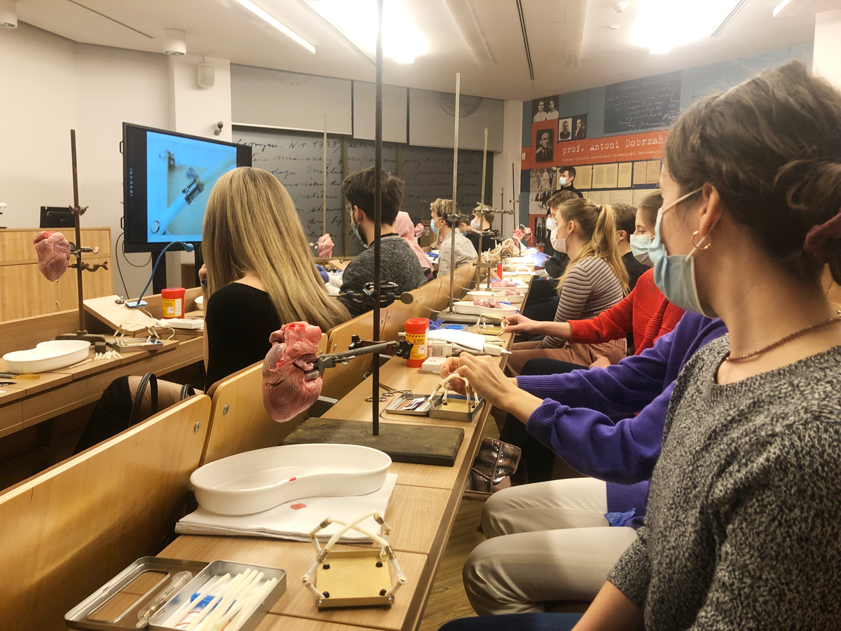
[[321,378],[304,380],[313,369],[321,329],[306,322],[284,324],[269,337],[272,347],[263,361],[263,406],[272,419],[283,423],[315,403],[321,394]]

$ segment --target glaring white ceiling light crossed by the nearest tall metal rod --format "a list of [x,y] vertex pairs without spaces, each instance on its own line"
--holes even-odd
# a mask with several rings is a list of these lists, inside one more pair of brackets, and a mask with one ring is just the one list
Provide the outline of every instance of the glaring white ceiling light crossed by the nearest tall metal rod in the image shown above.
[[[307,2],[360,48],[377,48],[376,0],[309,0]],[[426,39],[415,28],[400,0],[383,0],[383,56],[399,64],[415,63],[427,51]]]

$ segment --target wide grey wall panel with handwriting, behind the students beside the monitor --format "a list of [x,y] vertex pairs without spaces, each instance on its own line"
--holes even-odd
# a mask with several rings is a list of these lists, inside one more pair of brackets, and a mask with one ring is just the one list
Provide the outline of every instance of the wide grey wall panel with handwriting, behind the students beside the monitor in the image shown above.
[[[324,145],[320,134],[303,131],[235,127],[234,142],[251,146],[254,167],[272,172],[292,196],[307,239],[315,243],[322,234]],[[403,179],[406,183],[403,209],[417,223],[428,220],[429,204],[452,197],[452,149],[403,146]],[[348,139],[347,172],[373,167],[373,141]],[[383,168],[396,173],[397,146],[383,142]],[[341,136],[327,136],[327,231],[335,256],[341,256]],[[482,188],[482,152],[458,152],[458,206],[472,209]],[[348,229],[350,220],[347,220]],[[315,250],[314,250],[315,252]],[[353,236],[347,239],[347,254],[362,252]]]

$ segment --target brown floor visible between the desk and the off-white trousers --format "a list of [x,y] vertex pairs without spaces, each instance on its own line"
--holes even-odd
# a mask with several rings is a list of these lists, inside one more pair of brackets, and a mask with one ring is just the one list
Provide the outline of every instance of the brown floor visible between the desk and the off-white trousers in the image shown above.
[[[484,426],[484,437],[499,438],[493,418]],[[475,616],[470,607],[462,584],[462,568],[473,548],[484,541],[484,534],[478,532],[479,516],[484,501],[462,500],[458,506],[456,521],[452,525],[450,540],[438,568],[426,611],[421,619],[419,631],[435,631],[443,623],[455,618]]]

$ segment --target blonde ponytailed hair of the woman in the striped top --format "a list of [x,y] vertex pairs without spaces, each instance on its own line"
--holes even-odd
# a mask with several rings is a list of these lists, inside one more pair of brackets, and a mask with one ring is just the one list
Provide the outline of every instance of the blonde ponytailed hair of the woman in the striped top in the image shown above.
[[[619,248],[616,247],[616,215],[611,206],[596,205],[590,199],[570,199],[564,202],[558,213],[563,222],[575,221],[582,231],[584,247],[574,257],[569,259],[563,276],[558,280],[558,295],[563,289],[563,281],[567,278],[575,263],[584,258],[603,258],[612,272],[619,278],[622,291],[628,293],[628,272]],[[558,224],[561,224],[558,221]]]

